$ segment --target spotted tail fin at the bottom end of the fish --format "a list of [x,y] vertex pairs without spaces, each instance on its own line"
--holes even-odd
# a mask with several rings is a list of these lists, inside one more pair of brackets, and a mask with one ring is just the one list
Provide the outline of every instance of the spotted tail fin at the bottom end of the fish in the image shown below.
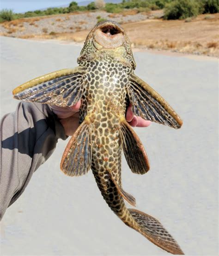
[[184,255],[176,240],[173,239],[156,218],[135,209],[128,209],[128,211],[140,227],[137,231],[149,241],[167,252]]

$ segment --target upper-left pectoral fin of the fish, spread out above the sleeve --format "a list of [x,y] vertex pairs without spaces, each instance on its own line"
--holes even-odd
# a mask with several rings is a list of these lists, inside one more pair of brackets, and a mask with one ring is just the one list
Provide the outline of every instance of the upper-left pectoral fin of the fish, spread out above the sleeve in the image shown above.
[[23,83],[13,90],[14,98],[60,107],[76,104],[84,90],[84,68],[58,70]]

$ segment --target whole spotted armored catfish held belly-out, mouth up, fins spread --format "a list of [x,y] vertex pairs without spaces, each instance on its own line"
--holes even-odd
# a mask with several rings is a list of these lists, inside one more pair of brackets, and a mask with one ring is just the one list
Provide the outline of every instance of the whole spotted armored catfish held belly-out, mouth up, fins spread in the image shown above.
[[149,170],[145,149],[125,119],[128,104],[134,115],[180,128],[179,115],[147,83],[134,74],[130,41],[113,21],[98,23],[88,34],[79,66],[37,77],[13,90],[14,98],[73,106],[81,100],[79,128],[67,144],[61,170],[80,176],[92,170],[103,198],[129,227],[172,254],[183,254],[176,240],[152,216],[128,209],[135,198],[122,188],[121,153],[133,173]]

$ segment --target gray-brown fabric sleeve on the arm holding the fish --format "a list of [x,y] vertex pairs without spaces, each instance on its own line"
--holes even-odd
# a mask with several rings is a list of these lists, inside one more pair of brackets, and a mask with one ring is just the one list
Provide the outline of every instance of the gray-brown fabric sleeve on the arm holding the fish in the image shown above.
[[0,219],[53,153],[64,128],[47,104],[20,102],[0,123]]

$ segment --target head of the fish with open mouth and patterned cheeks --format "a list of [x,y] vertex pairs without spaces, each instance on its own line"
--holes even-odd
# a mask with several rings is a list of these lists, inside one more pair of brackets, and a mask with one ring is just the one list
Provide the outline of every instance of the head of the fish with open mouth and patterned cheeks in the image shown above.
[[131,49],[131,43],[124,29],[115,21],[103,21],[97,23],[89,32],[84,47],[78,58],[81,60],[92,60],[103,56],[107,52],[112,58],[126,59],[135,69],[135,61]]

